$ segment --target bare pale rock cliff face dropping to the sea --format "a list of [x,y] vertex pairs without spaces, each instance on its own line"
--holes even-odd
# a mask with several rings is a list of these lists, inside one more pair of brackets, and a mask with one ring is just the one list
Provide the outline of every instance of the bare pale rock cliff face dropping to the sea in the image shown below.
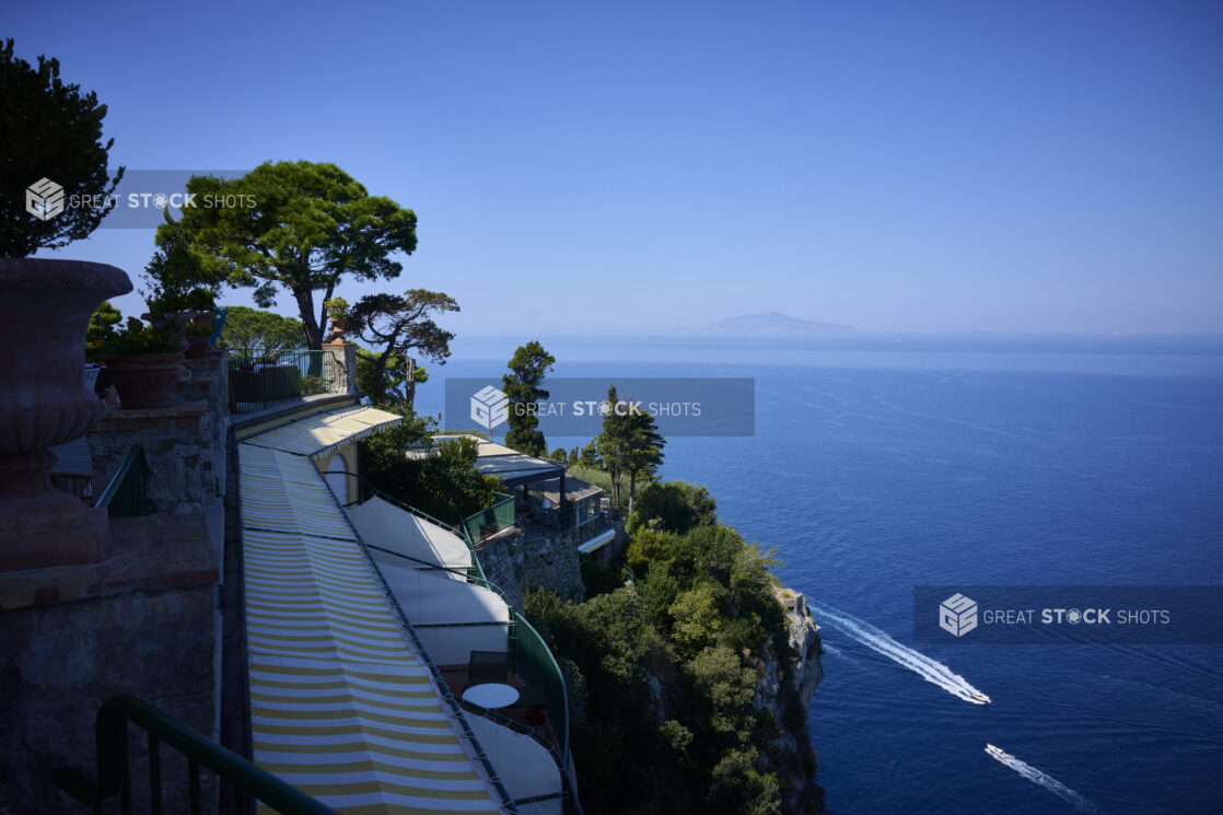
[[811,695],[824,678],[819,655],[819,627],[807,600],[790,589],[778,589],[777,598],[785,608],[790,649],[795,655],[789,675],[777,658],[777,649],[762,661],[756,684],[756,706],[768,710],[781,728],[774,742],[777,755],[770,761],[783,784],[781,806],[789,815],[813,815],[823,809],[824,791],[816,783],[816,757],[807,733],[807,707]]

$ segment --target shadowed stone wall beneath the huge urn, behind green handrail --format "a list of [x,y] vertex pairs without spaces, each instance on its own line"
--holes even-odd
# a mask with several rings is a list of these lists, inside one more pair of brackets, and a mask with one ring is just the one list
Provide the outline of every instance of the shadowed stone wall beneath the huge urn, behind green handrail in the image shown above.
[[[215,738],[220,575],[203,516],[111,519],[110,531],[102,563],[0,574],[2,815],[88,811],[51,773],[95,780],[94,720],[115,694]],[[144,739],[132,744],[139,783]],[[186,811],[185,775],[164,754],[166,811]]]

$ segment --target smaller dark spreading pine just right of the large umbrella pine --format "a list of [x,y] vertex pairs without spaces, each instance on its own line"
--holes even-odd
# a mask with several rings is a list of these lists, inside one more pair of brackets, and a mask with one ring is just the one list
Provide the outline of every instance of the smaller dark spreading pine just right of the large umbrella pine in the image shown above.
[[340,299],[324,303],[344,313],[347,332],[382,349],[364,355],[367,374],[362,390],[374,404],[407,401],[407,392],[396,385],[407,381],[413,351],[438,365],[445,365],[450,356],[450,340],[455,335],[443,330],[433,314],[459,311],[459,303],[440,291],[410,289],[402,296],[366,295],[351,308]]

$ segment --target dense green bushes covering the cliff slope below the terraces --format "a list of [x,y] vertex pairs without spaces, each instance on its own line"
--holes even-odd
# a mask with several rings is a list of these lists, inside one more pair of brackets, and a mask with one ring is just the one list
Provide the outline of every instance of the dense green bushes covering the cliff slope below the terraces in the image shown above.
[[527,616],[570,672],[572,745],[588,815],[780,813],[762,759],[779,722],[757,668],[793,667],[774,564],[714,520],[692,485],[651,485],[630,521],[635,580],[587,565],[580,605],[533,591]]

